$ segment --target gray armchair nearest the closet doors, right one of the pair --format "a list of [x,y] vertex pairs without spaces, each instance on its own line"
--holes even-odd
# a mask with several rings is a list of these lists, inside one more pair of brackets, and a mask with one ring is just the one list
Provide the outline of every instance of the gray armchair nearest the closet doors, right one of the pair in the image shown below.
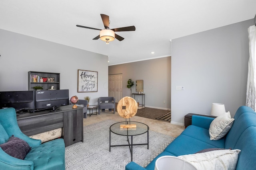
[[114,109],[114,113],[116,111],[116,99],[114,97],[100,97],[98,98],[98,111],[100,114],[100,109],[102,111],[105,111],[105,109],[108,109],[109,111],[112,111]]

